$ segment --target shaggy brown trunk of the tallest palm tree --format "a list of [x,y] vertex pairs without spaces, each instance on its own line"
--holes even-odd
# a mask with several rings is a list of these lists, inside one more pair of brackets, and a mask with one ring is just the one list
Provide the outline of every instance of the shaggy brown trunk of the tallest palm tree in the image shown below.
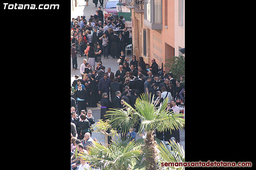
[[147,132],[146,138],[144,139],[144,147],[150,150],[150,157],[146,157],[149,162],[148,170],[157,170],[157,151],[156,151],[156,141],[154,139],[153,131]]

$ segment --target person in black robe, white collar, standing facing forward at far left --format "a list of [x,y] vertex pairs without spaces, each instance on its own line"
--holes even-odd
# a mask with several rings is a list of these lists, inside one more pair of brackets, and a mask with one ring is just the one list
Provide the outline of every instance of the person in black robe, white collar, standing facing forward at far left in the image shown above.
[[89,98],[87,96],[86,90],[82,89],[82,84],[79,83],[77,84],[78,90],[75,91],[74,96],[77,100],[77,105],[78,105],[78,115],[80,115],[81,110],[86,109],[86,103],[88,104]]

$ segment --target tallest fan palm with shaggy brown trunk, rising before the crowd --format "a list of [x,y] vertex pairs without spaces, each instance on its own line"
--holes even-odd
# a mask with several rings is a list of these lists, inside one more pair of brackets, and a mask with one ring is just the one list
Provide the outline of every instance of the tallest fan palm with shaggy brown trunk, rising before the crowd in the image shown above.
[[[151,95],[150,95],[151,96]],[[153,96],[154,98],[154,96]],[[142,94],[140,98],[137,98],[135,103],[135,109],[132,108],[126,102],[126,109],[110,109],[107,111],[107,118],[110,119],[112,128],[121,130],[123,133],[128,132],[130,127],[134,127],[136,122],[141,119],[138,133],[146,132],[146,139],[144,139],[144,148],[150,149],[150,157],[146,160],[149,162],[148,169],[157,169],[157,151],[156,141],[154,139],[154,131],[164,131],[166,129],[174,129],[184,127],[184,119],[180,118],[183,114],[170,113],[166,111],[168,98],[166,98],[159,107],[156,107],[156,103],[151,100],[148,95]]]

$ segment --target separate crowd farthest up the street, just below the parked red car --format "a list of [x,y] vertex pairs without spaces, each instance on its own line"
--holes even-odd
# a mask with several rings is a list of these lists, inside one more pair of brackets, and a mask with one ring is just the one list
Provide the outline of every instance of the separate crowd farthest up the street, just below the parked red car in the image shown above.
[[71,21],[71,57],[73,70],[78,69],[77,54],[79,57],[86,56],[90,66],[104,59],[120,58],[121,51],[129,44],[130,32],[125,27],[126,20],[121,15],[118,18],[109,16],[104,20],[101,7],[96,14],[88,20],[85,16],[72,18]]

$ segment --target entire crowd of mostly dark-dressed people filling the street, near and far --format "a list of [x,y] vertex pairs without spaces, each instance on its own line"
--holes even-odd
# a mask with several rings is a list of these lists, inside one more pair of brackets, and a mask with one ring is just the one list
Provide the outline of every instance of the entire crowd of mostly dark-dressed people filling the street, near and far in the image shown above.
[[[132,55],[124,55],[124,47],[128,45],[129,31],[124,27],[125,20],[108,17],[103,20],[102,11],[96,11],[87,21],[84,16],[73,18],[71,22],[71,57],[73,69],[79,69],[80,75],[75,75],[71,85],[71,169],[75,170],[79,165],[86,165],[84,160],[79,160],[78,152],[87,152],[88,145],[92,145],[92,125],[95,123],[92,110],[87,107],[98,107],[100,103],[100,119],[106,121],[106,111],[110,108],[125,109],[124,102],[135,107],[136,99],[140,94],[146,94],[154,100],[156,106],[168,97],[169,111],[179,113],[180,108],[176,105],[185,106],[185,81],[184,76],[174,80],[171,72],[163,75],[155,59],[151,64],[144,62],[143,57],[136,59]],[[103,23],[103,24],[102,24]],[[115,30],[120,29],[119,35]],[[91,33],[91,31],[94,31]],[[79,53],[78,53],[79,51]],[[86,56],[78,68],[77,54],[79,57]],[[101,61],[101,55],[108,59],[120,59],[119,69],[114,73],[111,68],[106,68]],[[154,96],[154,98],[153,98]],[[127,136],[135,140],[136,130],[131,127]],[[163,141],[169,141],[175,137],[180,142],[179,130],[156,132],[156,137]],[[87,165],[86,165],[87,166]],[[85,167],[85,166],[84,166]]]

